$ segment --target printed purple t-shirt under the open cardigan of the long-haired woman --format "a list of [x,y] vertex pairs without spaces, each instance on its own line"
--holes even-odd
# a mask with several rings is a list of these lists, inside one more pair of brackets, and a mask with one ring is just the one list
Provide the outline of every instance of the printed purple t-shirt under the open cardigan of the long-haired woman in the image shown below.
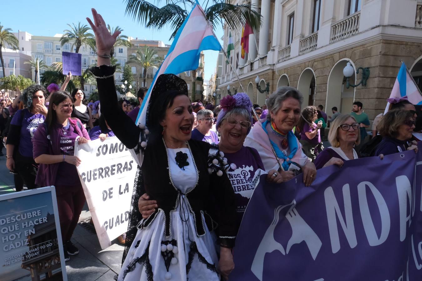
[[[62,125],[59,127],[60,154],[73,155],[75,152],[75,140],[79,135],[70,126],[70,122],[65,127]],[[60,162],[55,185],[76,186],[80,184],[76,166],[67,162]]]

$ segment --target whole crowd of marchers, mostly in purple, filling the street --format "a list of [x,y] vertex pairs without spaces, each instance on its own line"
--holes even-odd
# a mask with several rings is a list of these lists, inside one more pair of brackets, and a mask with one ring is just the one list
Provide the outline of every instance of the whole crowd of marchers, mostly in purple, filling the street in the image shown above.
[[60,88],[32,85],[15,99],[0,92],[6,166],[17,191],[55,186],[66,260],[78,254],[70,238],[85,202],[76,142],[116,136],[138,164],[117,280],[227,279],[235,266],[236,233],[261,173],[274,183],[303,174],[309,186],[326,166],[417,152],[422,115],[406,97],[388,100],[391,108],[376,117],[370,138],[362,102],[348,114],[333,107],[327,115],[322,105],[301,110],[302,94],[286,86],[262,105],[237,93],[216,107],[204,106],[191,102],[186,82],[172,74],[157,78],[138,126],[148,88],[138,90],[137,103],[117,99],[109,54],[119,32],[111,35],[104,19],[92,14],[98,59],[91,72],[99,101],[86,101],[82,89],[66,92],[71,73]]

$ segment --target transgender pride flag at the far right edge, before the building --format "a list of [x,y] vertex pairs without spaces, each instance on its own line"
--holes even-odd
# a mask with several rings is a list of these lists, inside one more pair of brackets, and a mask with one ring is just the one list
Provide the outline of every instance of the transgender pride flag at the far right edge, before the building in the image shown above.
[[[422,105],[422,94],[404,63],[401,64],[390,98],[400,98],[403,96],[407,96],[408,101],[412,104]],[[384,114],[387,113],[389,109],[390,103],[387,103]]]

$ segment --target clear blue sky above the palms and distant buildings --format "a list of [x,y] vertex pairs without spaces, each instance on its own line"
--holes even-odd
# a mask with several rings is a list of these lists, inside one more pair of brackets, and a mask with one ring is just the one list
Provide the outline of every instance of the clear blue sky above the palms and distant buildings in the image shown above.
[[[162,40],[165,44],[171,44],[169,40],[172,31],[164,27],[160,31],[146,29],[133,19],[125,15],[126,4],[123,0],[38,0],[38,1],[1,1],[0,23],[9,27],[13,32],[18,30],[29,32],[38,36],[54,36],[63,33],[68,28],[67,24],[88,24],[87,16],[92,19],[91,8],[100,13],[107,24],[124,29],[122,34],[138,37],[138,39]],[[152,2],[152,1],[151,1]],[[164,3],[164,1],[163,1]],[[202,3],[202,2],[200,2]],[[214,30],[220,40],[222,28]],[[222,41],[220,40],[222,43]],[[205,79],[208,80],[214,73],[217,62],[217,51],[204,51],[205,54]]]

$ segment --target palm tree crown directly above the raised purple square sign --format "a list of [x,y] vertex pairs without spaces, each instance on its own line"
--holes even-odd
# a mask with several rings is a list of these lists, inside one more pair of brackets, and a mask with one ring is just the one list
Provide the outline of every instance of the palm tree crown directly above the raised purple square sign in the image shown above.
[[86,24],[81,26],[81,22],[78,22],[78,26],[76,26],[76,24],[73,24],[73,27],[70,24],[68,24],[68,26],[70,29],[63,30],[65,33],[60,38],[60,44],[62,46],[65,45],[65,43],[71,42],[71,50],[73,50],[73,46],[76,45],[75,53],[79,53],[79,48],[84,44],[91,47],[92,50],[95,50],[95,37],[92,33],[88,32],[88,30],[91,29],[90,27]]

